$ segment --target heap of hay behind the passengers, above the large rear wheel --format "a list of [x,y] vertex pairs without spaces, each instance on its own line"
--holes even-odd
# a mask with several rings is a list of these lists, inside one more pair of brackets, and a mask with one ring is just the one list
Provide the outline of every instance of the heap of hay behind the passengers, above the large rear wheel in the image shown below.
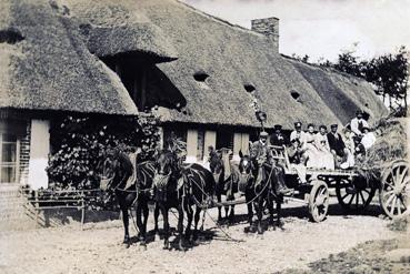
[[364,161],[357,166],[362,175],[379,179],[392,161],[407,158],[406,123],[406,119],[381,119],[378,122],[374,128],[377,141],[367,151]]

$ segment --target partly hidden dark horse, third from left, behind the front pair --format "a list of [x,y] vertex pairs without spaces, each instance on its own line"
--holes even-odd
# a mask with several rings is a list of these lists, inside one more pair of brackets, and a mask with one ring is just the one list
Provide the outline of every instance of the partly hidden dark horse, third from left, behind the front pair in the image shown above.
[[[209,168],[213,174],[216,185],[216,196],[218,203],[221,203],[221,196],[226,195],[227,201],[234,200],[234,194],[238,193],[238,172],[229,162],[229,155],[231,151],[228,149],[221,149],[219,151],[212,151],[209,159]],[[231,205],[229,213],[229,206],[224,206],[224,215],[229,217],[229,221],[233,220],[234,205]],[[218,221],[222,220],[221,206],[218,206]]]

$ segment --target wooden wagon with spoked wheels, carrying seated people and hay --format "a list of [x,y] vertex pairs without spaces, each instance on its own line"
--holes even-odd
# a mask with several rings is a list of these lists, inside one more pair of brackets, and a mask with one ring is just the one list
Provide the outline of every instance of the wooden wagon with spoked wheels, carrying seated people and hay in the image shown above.
[[271,146],[273,158],[284,168],[286,182],[293,187],[290,200],[298,199],[308,204],[314,222],[324,220],[329,209],[329,189],[336,189],[339,204],[347,211],[362,211],[379,190],[380,206],[389,217],[409,214],[410,174],[404,159],[386,163],[380,168],[380,177],[366,177],[362,170],[311,170],[307,169],[307,184],[300,184],[298,173],[291,166],[283,146]]

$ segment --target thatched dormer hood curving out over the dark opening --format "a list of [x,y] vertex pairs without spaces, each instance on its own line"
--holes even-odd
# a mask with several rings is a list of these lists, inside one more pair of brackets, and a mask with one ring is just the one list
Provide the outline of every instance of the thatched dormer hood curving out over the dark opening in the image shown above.
[[[167,34],[154,26],[132,0],[60,0],[78,20],[89,50],[98,57],[148,53],[156,62],[171,61],[177,51]],[[67,9],[67,8],[66,8]]]

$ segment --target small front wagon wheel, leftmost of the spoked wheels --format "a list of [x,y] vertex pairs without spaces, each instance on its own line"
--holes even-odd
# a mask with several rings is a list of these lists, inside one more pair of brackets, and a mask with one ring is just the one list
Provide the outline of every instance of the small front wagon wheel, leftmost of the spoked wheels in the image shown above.
[[329,189],[328,185],[321,180],[314,180],[311,182],[313,187],[309,195],[309,213],[311,220],[314,222],[321,222],[328,214],[329,209]]

